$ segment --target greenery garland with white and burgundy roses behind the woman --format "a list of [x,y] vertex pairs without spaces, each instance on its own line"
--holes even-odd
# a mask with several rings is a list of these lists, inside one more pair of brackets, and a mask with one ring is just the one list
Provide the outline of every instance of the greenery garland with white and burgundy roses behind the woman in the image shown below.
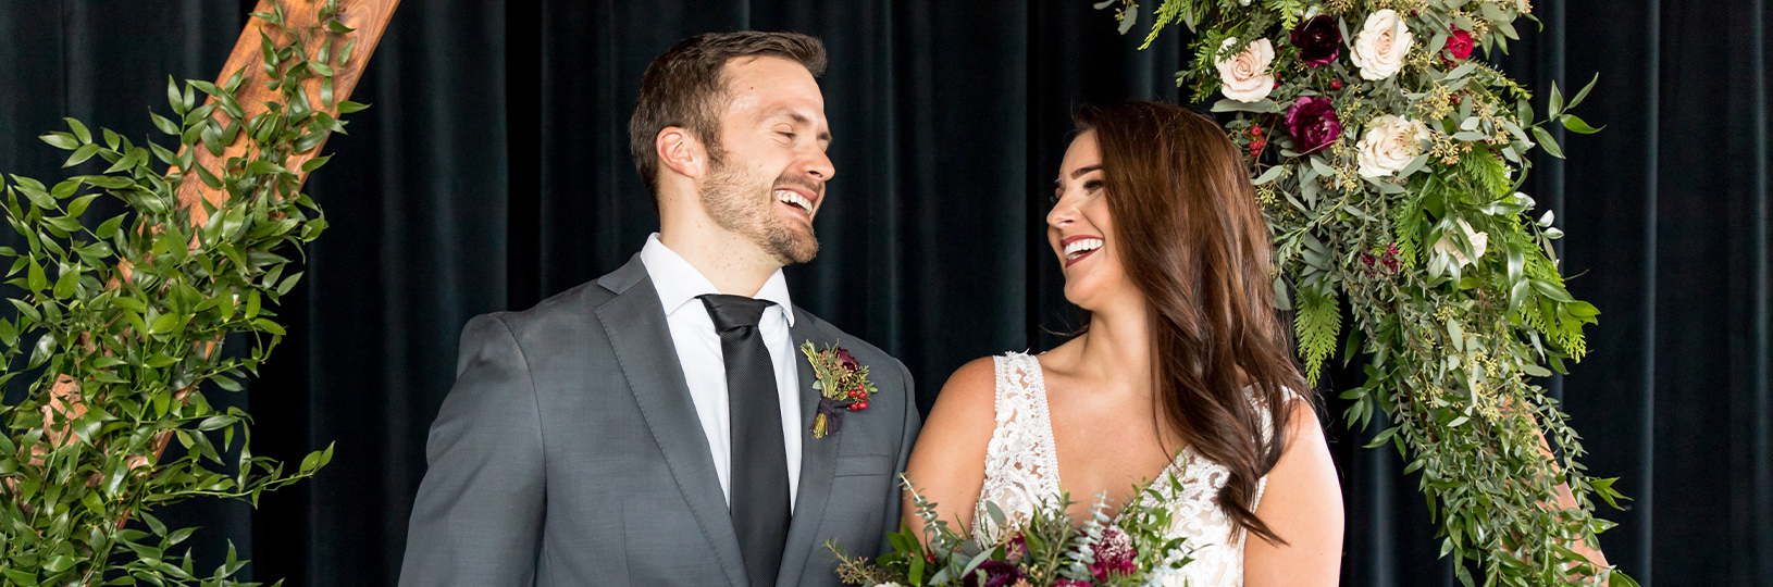
[[[1133,0],[1108,0],[1126,34]],[[1294,310],[1316,385],[1323,362],[1367,356],[1367,381],[1342,392],[1349,426],[1385,410],[1394,443],[1420,472],[1441,525],[1441,555],[1473,585],[1566,585],[1622,573],[1571,550],[1597,548],[1613,523],[1599,497],[1613,479],[1576,461],[1582,443],[1557,401],[1530,378],[1580,360],[1599,310],[1564,289],[1546,211],[1519,193],[1534,147],[1562,158],[1541,126],[1594,133],[1551,87],[1532,94],[1470,60],[1507,51],[1527,0],[1163,0],[1145,46],[1172,23],[1197,34],[1175,74],[1246,149],[1277,250],[1275,293]],[[1144,46],[1142,46],[1144,48]],[[1287,282],[1294,296],[1287,296]],[[1342,333],[1340,305],[1355,323]],[[1340,340],[1340,344],[1339,344]],[[1550,369],[1548,369],[1550,367]],[[1543,436],[1541,436],[1543,434]],[[1544,438],[1557,447],[1553,452]],[[1558,484],[1576,507],[1560,509]]]

